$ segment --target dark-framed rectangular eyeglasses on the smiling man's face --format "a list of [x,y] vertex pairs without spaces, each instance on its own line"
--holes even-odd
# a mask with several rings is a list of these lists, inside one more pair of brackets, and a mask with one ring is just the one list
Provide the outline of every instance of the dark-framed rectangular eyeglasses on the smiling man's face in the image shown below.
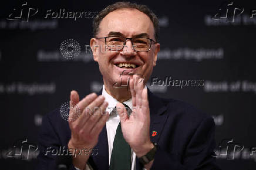
[[109,50],[122,50],[126,45],[126,40],[129,39],[132,42],[133,49],[136,52],[148,52],[150,50],[152,42],[156,43],[150,38],[124,38],[121,36],[107,36],[96,39],[105,39],[106,48]]

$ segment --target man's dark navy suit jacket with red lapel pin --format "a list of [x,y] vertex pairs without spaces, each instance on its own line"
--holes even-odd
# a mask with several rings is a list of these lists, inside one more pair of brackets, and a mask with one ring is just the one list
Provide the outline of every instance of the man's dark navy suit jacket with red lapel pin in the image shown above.
[[[151,169],[219,169],[212,157],[215,148],[213,118],[182,101],[160,98],[150,91],[148,98],[150,139],[158,144]],[[154,136],[153,131],[157,132]],[[56,156],[45,156],[46,148],[67,146],[69,140],[69,124],[60,117],[59,108],[46,114],[39,132],[37,169],[56,169]],[[95,149],[97,155],[90,156],[90,165],[93,169],[109,169],[106,125]],[[136,169],[142,168],[136,159]],[[74,169],[73,165],[70,169]]]

